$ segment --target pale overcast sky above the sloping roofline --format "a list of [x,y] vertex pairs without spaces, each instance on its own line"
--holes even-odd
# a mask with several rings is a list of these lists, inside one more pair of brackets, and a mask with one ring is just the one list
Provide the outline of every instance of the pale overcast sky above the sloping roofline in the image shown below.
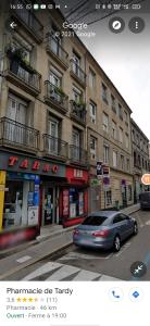
[[[60,0],[57,1],[60,2]],[[76,1],[79,2],[79,0]],[[86,10],[89,11],[93,2],[95,0],[87,1],[85,12]],[[135,0],[134,2],[138,1]],[[68,4],[71,2],[62,0],[61,3]],[[145,7],[150,7],[150,0],[145,0],[143,3]],[[140,14],[137,11],[124,10],[112,15],[121,16],[125,21],[125,29],[122,33],[114,34],[109,29],[111,16],[91,24],[88,30],[96,32],[96,37],[83,37],[82,41],[118,89],[133,111],[132,117],[150,139],[150,11],[149,14],[146,13],[145,7],[143,12],[141,11]],[[85,12],[84,8],[82,8],[79,9],[79,14],[74,14],[75,16],[73,15],[68,18],[71,22],[75,21],[77,23],[92,21],[95,14],[84,16],[79,21],[79,15],[83,15]],[[146,26],[142,33],[133,34],[128,29],[128,22],[137,15],[143,18]]]

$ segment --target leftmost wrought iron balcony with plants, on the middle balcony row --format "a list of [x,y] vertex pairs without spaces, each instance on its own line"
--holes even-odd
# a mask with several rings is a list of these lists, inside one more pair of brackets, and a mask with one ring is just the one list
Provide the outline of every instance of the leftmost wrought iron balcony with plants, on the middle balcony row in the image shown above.
[[16,58],[13,52],[11,53],[11,50],[7,52],[7,55],[9,61],[5,77],[32,95],[37,96],[40,92],[41,75],[29,63]]

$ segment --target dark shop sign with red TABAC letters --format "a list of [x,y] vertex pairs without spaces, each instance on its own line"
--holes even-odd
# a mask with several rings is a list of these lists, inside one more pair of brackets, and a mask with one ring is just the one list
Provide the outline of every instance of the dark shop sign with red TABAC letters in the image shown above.
[[17,154],[0,152],[0,170],[8,172],[34,173],[39,175],[65,177],[65,166]]

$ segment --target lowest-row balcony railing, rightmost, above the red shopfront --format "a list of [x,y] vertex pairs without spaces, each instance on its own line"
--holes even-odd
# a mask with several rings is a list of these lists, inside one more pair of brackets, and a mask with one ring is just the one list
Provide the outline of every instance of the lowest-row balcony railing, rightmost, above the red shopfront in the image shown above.
[[78,164],[87,164],[87,151],[83,148],[70,145],[70,160]]

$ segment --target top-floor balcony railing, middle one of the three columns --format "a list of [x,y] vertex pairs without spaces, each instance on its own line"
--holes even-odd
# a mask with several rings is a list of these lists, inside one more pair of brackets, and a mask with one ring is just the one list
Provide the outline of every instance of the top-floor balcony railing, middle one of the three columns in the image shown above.
[[57,39],[53,35],[48,34],[47,39],[47,51],[53,52],[64,64],[68,65],[68,53],[60,45],[60,40]]

